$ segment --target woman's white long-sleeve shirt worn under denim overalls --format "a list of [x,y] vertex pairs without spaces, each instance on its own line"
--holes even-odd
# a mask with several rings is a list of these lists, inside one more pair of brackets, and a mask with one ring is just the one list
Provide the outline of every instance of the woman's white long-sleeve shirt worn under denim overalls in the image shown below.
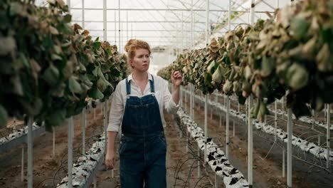
[[[127,79],[131,85],[130,96],[137,96],[139,98],[144,95],[151,94],[150,83],[148,82],[146,88],[144,88],[144,93],[142,95],[139,86],[134,83],[132,74],[130,74]],[[148,79],[152,80],[152,75],[148,73]],[[167,113],[176,113],[179,108],[179,104],[176,105],[174,100],[171,98],[171,93],[168,88],[168,83],[166,80],[159,76],[154,76],[154,87],[155,87],[155,97],[159,103],[159,113],[161,114],[163,127],[166,126],[164,120],[163,109],[166,109]],[[112,96],[111,110],[109,116],[109,124],[107,126],[107,131],[118,132],[120,125],[122,124],[122,116],[124,115],[125,105],[126,105],[127,93],[126,93],[126,79],[121,80],[118,83],[115,93]]]

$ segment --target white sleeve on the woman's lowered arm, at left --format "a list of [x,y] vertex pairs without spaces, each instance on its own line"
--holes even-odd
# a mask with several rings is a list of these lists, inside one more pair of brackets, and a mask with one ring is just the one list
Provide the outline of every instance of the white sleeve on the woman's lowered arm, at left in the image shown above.
[[124,104],[122,100],[122,90],[119,83],[115,89],[115,92],[112,95],[107,131],[119,131],[120,124],[122,123],[122,115],[124,112]]

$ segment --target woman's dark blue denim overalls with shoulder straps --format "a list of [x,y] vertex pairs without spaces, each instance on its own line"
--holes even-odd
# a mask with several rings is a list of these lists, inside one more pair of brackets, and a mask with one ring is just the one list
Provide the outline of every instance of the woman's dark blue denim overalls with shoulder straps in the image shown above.
[[154,95],[154,78],[149,80],[152,94],[129,96],[122,118],[120,140],[120,184],[122,188],[166,187],[166,140],[159,104]]

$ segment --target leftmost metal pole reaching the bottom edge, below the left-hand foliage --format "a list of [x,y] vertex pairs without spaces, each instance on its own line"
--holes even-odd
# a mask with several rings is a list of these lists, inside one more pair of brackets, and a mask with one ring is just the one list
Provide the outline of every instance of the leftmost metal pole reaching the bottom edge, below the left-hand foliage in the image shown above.
[[33,187],[33,117],[28,117],[28,188]]

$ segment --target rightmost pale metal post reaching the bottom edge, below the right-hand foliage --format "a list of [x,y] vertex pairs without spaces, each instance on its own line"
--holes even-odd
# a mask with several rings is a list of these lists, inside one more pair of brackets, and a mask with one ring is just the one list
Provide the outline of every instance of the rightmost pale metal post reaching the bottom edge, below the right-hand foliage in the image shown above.
[[288,108],[287,140],[287,187],[292,187],[292,110],[290,108]]

